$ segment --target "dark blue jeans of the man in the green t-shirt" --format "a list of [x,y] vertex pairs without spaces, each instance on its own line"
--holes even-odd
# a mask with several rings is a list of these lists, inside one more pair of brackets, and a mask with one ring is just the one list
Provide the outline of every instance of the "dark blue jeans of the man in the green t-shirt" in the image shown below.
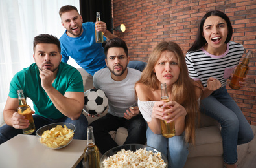
[[[77,120],[71,120],[66,116],[63,118],[54,120],[54,119],[44,118],[36,114],[33,115],[33,119],[34,119],[36,131],[40,129],[40,127],[43,127],[44,125],[48,125],[50,123],[59,123],[59,122],[73,123],[76,126],[74,139],[86,140],[86,136],[87,136],[86,130],[88,126],[88,121],[86,119],[86,116],[84,116],[84,114],[82,113]],[[33,132],[32,135],[35,135],[36,131]],[[0,127],[0,144],[6,142],[7,140],[10,140],[17,134],[23,134],[22,129],[14,129],[14,127],[11,127],[9,125],[3,125],[2,127]]]

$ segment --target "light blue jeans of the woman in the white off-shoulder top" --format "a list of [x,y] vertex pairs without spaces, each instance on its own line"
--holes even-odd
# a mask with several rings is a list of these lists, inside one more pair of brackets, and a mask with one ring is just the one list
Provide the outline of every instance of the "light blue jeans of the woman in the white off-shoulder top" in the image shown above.
[[188,145],[184,141],[184,132],[181,136],[165,138],[161,134],[154,134],[148,127],[146,139],[148,146],[156,148],[167,157],[169,168],[184,167],[189,154]]

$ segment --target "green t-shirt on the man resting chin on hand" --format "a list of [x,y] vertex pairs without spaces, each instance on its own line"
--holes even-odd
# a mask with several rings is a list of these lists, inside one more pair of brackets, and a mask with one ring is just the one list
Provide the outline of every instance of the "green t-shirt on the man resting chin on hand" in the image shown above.
[[[36,63],[17,72],[10,83],[10,98],[17,98],[17,90],[22,89],[24,96],[29,97],[34,104],[35,113],[45,118],[58,119],[64,117],[54,106],[49,96],[41,87],[41,78]],[[62,95],[65,92],[84,92],[82,76],[76,68],[60,63],[56,79],[52,86]]]

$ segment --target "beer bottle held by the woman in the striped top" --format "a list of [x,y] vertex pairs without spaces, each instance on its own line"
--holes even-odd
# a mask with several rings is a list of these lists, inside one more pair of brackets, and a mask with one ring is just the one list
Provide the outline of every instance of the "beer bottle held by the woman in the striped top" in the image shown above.
[[240,89],[239,81],[244,81],[243,78],[246,77],[247,72],[249,70],[249,59],[252,58],[253,52],[248,51],[244,59],[242,60],[242,63],[240,63],[235,73],[233,74],[233,78],[231,79],[231,82],[229,84],[229,87],[232,89]]

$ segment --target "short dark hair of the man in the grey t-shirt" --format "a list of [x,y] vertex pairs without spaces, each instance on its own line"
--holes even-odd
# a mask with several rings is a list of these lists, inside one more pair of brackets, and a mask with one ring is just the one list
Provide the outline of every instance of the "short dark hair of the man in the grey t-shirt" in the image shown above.
[[108,54],[108,49],[110,49],[112,47],[124,48],[124,52],[125,52],[126,56],[128,57],[128,47],[127,47],[125,41],[123,41],[122,39],[119,39],[119,38],[113,38],[113,39],[108,40],[105,45],[104,53],[105,53],[106,58],[107,58],[107,54]]

